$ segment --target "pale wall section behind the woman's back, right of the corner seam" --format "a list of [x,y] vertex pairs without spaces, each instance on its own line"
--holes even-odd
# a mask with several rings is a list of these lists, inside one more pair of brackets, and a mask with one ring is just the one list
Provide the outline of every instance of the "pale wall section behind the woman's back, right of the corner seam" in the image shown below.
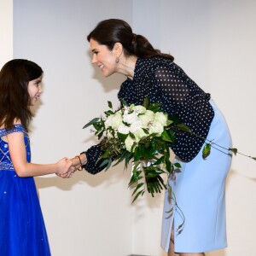
[[[133,3],[135,31],[174,55],[177,64],[212,94],[230,125],[234,147],[255,156],[256,2]],[[234,157],[226,195],[229,247],[208,256],[256,255],[255,171],[255,161]]]

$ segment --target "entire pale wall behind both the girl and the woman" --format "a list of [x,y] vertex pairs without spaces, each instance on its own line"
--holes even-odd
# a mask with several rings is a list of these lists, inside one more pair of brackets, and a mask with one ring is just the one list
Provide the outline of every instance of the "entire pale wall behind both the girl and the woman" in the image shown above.
[[[2,7],[8,6],[5,19],[11,26],[12,5],[6,2],[0,2],[1,22]],[[174,55],[223,110],[234,146],[255,155],[253,0],[15,0],[14,8],[14,56],[37,61],[45,72],[31,136],[33,161],[52,162],[88,148],[95,141],[81,127],[102,113],[108,100],[117,104],[123,78],[102,78],[90,65],[85,39],[97,21],[109,17],[127,20],[135,32]],[[11,29],[4,27],[11,42]],[[9,52],[8,61],[12,49],[1,40],[3,52]],[[255,162],[237,155],[227,182],[229,247],[208,256],[256,253],[255,176]],[[79,172],[68,180],[37,178],[53,255],[166,255],[160,249],[162,198],[145,197],[131,206],[128,179],[122,166],[95,177]]]

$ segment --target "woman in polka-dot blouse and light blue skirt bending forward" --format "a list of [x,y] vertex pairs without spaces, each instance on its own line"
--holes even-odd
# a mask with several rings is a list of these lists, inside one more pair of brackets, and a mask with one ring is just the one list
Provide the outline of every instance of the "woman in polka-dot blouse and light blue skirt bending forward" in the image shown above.
[[[176,134],[171,146],[182,172],[169,177],[176,197],[166,193],[162,221],[161,246],[168,255],[205,255],[204,252],[226,247],[225,179],[230,169],[228,151],[212,148],[207,160],[202,159],[204,139],[224,148],[231,147],[230,131],[222,113],[205,93],[189,79],[172,55],[163,54],[142,35],[132,32],[124,20],[102,20],[87,37],[92,51],[92,63],[105,77],[124,74],[118,97],[128,104],[159,102],[161,110],[171,116],[177,114],[193,133]],[[101,146],[96,145],[73,158],[73,166],[82,166],[87,172],[101,172]],[[172,216],[167,212],[174,205]],[[178,207],[176,207],[178,206]],[[185,217],[183,230],[177,227]],[[171,242],[170,242],[171,241]],[[174,253],[175,252],[175,253]]]

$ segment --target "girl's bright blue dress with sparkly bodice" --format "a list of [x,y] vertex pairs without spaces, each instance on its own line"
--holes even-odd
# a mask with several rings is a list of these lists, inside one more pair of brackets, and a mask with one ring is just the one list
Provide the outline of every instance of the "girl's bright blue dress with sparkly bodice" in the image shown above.
[[0,129],[0,255],[48,256],[49,242],[33,177],[18,177],[2,137],[23,132],[26,159],[31,160],[29,137],[22,125]]

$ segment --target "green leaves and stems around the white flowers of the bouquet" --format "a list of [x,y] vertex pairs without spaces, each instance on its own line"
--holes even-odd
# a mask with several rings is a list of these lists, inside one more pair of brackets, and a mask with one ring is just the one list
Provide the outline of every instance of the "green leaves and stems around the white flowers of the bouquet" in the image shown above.
[[[133,113],[133,108],[130,108],[121,99],[121,108],[117,111],[113,111],[112,102],[108,102],[108,111],[104,112],[106,119],[114,116],[115,113],[119,111],[121,115],[125,115],[125,111],[128,113]],[[133,106],[134,107],[134,106]],[[146,108],[153,113],[158,113],[160,111],[160,104],[153,103],[150,104],[148,97],[143,101],[143,106],[138,106],[141,108]],[[128,110],[127,110],[128,109]],[[138,116],[143,113],[138,113]],[[166,113],[164,113],[166,114]],[[166,114],[167,116],[167,114]],[[174,172],[181,172],[182,166],[179,163],[172,163],[170,160],[170,143],[175,143],[175,132],[183,131],[188,132],[190,135],[195,137],[200,137],[189,129],[187,125],[183,125],[178,119],[177,115],[167,116],[166,125],[164,125],[164,131],[160,134],[150,133],[149,126],[143,127],[142,131],[144,136],[137,139],[136,134],[129,131],[124,134],[117,129],[113,129],[111,125],[105,124],[106,119],[96,118],[90,120],[90,122],[84,125],[83,128],[87,128],[93,125],[95,129],[95,135],[101,140],[102,145],[102,165],[106,166],[107,171],[111,166],[116,166],[120,162],[125,161],[125,169],[129,166],[130,162],[132,164],[132,175],[128,187],[133,189],[132,196],[134,196],[133,201],[136,201],[139,196],[143,196],[145,191],[148,191],[152,196],[156,193],[160,193],[162,190],[168,188],[168,194],[172,196],[172,187],[164,182],[162,175],[167,177]],[[128,125],[127,121],[122,121],[123,125]],[[106,127],[107,126],[107,127]],[[126,148],[125,142],[128,137],[134,141],[131,145],[130,150]],[[207,141],[206,138],[200,137],[205,141],[205,145],[202,150],[202,158],[207,159],[211,153],[212,145],[214,147],[223,148],[212,141]],[[241,154],[236,148],[224,148],[229,150],[233,154]],[[247,155],[246,155],[247,156]],[[247,156],[256,160],[255,157]],[[172,213],[172,212],[170,212]]]

